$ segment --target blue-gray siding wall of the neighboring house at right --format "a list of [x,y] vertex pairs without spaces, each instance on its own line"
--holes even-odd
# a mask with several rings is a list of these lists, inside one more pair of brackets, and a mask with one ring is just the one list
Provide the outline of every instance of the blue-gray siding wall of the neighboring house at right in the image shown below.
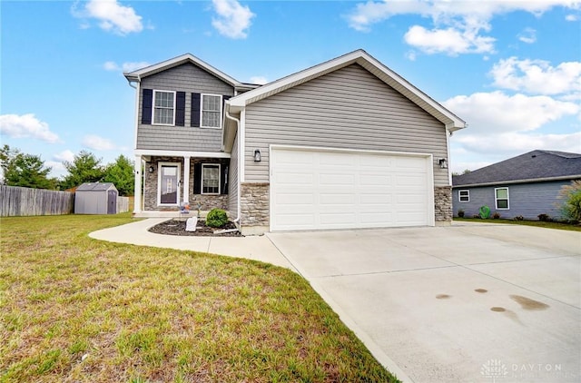
[[[491,213],[497,211],[501,218],[513,219],[522,215],[526,220],[538,220],[538,214],[548,214],[551,218],[560,219],[561,213],[556,206],[560,200],[558,193],[563,185],[570,182],[532,182],[517,184],[498,184],[497,186],[454,187],[452,189],[452,208],[454,216],[458,210],[464,211],[465,217],[478,214],[481,206],[488,206]],[[495,189],[508,188],[509,209],[496,209]],[[458,191],[468,190],[470,201],[458,201]]]

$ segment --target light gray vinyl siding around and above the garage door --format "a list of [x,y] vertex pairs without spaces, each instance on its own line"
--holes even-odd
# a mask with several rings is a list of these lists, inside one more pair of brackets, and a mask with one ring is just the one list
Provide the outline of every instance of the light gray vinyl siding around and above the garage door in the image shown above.
[[[358,64],[248,105],[245,121],[245,182],[269,181],[270,144],[448,158],[444,124]],[[447,170],[434,167],[434,184],[449,185]]]

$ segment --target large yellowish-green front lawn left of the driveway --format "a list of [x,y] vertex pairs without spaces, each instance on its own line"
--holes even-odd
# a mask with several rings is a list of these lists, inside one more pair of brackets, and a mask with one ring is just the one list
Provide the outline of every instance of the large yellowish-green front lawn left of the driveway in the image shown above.
[[0,381],[397,381],[298,274],[95,241],[117,216],[0,221]]

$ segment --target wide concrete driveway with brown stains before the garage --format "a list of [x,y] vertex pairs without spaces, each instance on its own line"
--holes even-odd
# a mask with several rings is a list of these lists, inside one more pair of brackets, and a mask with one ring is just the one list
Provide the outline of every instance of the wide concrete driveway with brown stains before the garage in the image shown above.
[[268,234],[414,382],[581,380],[581,233],[517,225]]

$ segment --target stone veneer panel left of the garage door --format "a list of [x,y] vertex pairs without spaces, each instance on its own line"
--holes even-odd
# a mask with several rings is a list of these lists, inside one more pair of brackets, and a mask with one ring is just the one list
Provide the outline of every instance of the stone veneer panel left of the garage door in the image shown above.
[[244,182],[240,187],[241,226],[269,226],[270,183]]

